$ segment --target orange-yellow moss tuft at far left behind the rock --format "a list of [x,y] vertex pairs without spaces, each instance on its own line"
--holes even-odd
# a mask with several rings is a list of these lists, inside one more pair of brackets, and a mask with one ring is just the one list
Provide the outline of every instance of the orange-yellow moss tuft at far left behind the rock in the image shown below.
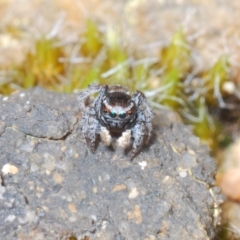
[[38,39],[23,63],[14,67],[13,82],[22,88],[40,85],[55,89],[61,82],[60,76],[65,73],[65,66],[60,62],[65,57],[64,50],[56,44],[57,39]]

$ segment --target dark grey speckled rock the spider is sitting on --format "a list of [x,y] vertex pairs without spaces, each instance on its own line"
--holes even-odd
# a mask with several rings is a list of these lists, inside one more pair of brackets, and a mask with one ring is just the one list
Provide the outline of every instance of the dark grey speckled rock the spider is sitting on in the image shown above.
[[0,98],[0,239],[212,238],[216,166],[191,130],[162,110],[133,161],[102,144],[92,154],[76,99]]

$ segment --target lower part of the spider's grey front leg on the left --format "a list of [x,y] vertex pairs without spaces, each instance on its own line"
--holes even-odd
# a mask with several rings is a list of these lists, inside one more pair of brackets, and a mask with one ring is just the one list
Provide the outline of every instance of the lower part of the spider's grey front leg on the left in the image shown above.
[[84,115],[82,118],[82,133],[92,152],[96,150],[99,132],[100,124],[96,118],[95,110],[89,108],[88,114]]

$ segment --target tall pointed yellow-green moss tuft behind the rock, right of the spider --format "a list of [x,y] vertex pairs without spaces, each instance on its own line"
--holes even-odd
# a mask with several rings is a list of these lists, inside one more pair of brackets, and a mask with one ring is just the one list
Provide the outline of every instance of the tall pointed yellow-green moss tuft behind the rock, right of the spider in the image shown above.
[[156,67],[163,69],[158,86],[164,91],[154,100],[174,109],[181,107],[181,82],[190,70],[190,54],[186,37],[179,30],[171,43],[160,51],[160,60]]

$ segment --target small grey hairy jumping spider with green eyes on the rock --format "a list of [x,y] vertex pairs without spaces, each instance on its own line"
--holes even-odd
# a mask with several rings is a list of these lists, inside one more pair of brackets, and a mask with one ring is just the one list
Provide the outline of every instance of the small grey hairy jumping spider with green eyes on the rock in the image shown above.
[[[95,99],[93,93],[98,93]],[[119,85],[90,85],[78,100],[82,114],[82,133],[92,152],[99,136],[110,146],[112,137],[117,145],[126,149],[132,146],[131,159],[149,142],[153,113],[144,94],[136,91],[132,96]]]

